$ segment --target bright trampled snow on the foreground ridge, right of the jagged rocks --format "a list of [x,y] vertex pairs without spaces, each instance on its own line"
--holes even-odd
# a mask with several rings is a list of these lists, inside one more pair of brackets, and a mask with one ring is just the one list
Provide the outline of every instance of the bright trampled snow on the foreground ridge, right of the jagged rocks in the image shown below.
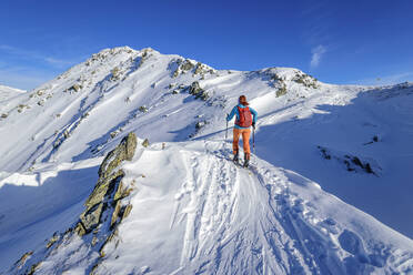
[[[341,274],[346,257],[386,262],[387,256],[373,248],[381,242],[370,240],[372,231],[377,240],[412,251],[409,238],[389,234],[371,216],[291,171],[263,161],[252,173],[238,169],[225,159],[231,152],[225,143],[187,146],[145,150],[124,165],[130,179],[145,177],[137,180],[140,191],[120,227],[122,242],[105,259],[109,273],[133,273],[140,267],[134,263],[142,263],[155,274]],[[365,244],[354,247],[361,238]]]

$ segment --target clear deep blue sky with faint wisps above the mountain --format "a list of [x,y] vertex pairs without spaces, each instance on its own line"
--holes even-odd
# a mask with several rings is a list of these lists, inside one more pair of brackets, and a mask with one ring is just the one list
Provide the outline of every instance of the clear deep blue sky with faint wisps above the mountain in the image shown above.
[[33,89],[104,48],[215,69],[293,67],[324,82],[413,81],[413,1],[0,2],[0,84]]

